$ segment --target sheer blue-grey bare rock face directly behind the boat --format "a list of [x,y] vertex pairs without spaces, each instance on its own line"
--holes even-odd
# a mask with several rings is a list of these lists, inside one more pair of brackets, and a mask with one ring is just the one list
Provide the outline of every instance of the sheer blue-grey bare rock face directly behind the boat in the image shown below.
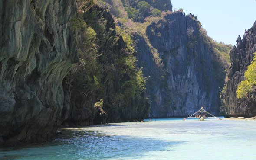
[[135,37],[139,67],[145,76],[151,76],[147,81],[150,117],[190,115],[201,106],[218,114],[215,55],[200,27],[197,17],[180,11],[148,26],[147,36],[162,59],[162,68],[154,63],[143,38]]

